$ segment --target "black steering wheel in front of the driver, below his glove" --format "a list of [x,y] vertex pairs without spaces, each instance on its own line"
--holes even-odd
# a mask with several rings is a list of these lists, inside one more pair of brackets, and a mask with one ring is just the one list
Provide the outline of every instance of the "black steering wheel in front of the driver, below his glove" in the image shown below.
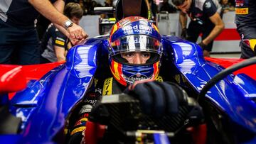
[[[102,100],[90,113],[85,140],[95,143],[151,143],[175,139],[176,135],[190,126],[198,126],[203,121],[201,106],[188,97],[188,105],[179,106],[176,114],[161,118],[143,113],[139,100],[127,94],[102,96]],[[164,138],[161,138],[164,137]]]

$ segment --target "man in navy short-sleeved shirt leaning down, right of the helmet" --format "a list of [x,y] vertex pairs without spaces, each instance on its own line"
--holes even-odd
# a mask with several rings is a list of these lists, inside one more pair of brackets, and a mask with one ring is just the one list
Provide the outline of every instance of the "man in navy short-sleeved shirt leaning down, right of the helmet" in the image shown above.
[[[181,38],[196,43],[202,33],[202,41],[198,45],[203,48],[203,55],[209,57],[213,49],[213,40],[224,29],[220,17],[221,6],[218,0],[172,0],[173,4],[181,10]],[[187,26],[187,16],[191,21]]]

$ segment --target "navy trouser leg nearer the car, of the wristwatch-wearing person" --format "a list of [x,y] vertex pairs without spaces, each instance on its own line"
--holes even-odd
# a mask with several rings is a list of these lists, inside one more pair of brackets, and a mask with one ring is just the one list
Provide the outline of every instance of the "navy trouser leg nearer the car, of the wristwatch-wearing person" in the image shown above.
[[39,40],[36,29],[26,31],[22,45],[18,48],[19,65],[35,65],[40,63]]

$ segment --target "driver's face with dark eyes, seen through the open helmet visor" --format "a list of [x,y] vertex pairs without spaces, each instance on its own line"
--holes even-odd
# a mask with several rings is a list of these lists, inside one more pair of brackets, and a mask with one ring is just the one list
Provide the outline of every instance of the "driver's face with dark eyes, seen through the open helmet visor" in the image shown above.
[[128,61],[129,64],[145,64],[150,58],[150,52],[123,52],[121,56]]

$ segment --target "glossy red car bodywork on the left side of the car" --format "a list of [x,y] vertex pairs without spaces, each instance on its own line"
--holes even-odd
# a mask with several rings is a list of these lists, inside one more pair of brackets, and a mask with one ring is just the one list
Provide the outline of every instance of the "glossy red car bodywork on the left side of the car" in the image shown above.
[[63,64],[52,62],[41,65],[0,65],[0,94],[9,93],[9,98],[15,92],[26,88],[31,79],[40,79],[44,74]]

